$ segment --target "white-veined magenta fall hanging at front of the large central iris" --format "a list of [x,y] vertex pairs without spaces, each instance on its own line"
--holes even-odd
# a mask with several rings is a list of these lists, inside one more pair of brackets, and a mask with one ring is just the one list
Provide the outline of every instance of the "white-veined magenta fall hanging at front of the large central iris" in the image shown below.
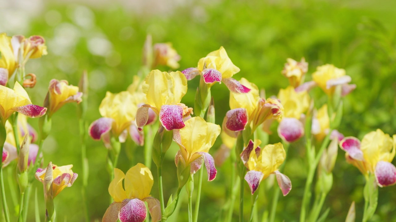
[[185,126],[183,122],[183,108],[180,105],[162,105],[160,122],[168,131],[183,128]]

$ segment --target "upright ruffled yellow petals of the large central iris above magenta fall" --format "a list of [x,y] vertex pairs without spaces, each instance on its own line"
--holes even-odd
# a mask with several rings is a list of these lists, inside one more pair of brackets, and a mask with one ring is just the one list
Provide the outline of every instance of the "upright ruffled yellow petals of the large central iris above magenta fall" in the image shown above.
[[147,104],[161,109],[162,105],[176,105],[187,92],[187,79],[180,71],[171,73],[152,70],[142,84]]

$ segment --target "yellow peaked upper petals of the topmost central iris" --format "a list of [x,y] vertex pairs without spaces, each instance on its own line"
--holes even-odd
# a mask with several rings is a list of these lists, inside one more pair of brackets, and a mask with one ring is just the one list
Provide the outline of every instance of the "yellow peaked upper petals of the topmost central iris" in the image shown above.
[[240,69],[231,62],[223,46],[220,47],[219,50],[213,51],[206,57],[201,58],[198,61],[198,70],[202,71],[205,64],[208,69],[220,71],[223,78],[232,77],[232,75],[240,71]]

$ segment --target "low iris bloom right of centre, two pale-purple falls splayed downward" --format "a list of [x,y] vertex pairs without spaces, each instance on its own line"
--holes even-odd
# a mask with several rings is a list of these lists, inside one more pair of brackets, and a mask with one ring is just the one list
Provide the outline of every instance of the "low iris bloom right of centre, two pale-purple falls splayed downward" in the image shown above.
[[260,182],[270,174],[276,175],[278,185],[286,196],[291,190],[289,177],[279,172],[278,168],[285,161],[286,152],[282,143],[268,144],[262,149],[258,146],[261,141],[249,141],[247,147],[240,154],[242,162],[249,170],[245,180],[249,184],[253,194],[260,185]]

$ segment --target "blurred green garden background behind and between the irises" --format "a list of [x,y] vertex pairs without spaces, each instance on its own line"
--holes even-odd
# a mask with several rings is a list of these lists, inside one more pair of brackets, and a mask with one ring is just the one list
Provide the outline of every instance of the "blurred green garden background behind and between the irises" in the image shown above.
[[[307,79],[316,66],[331,63],[344,68],[352,77],[356,90],[345,98],[343,122],[339,131],[344,135],[362,138],[369,131],[381,128],[396,134],[396,2],[388,0],[150,0],[150,1],[6,1],[1,8],[1,31],[8,35],[44,36],[48,55],[31,60],[27,72],[38,78],[36,87],[27,89],[34,104],[42,104],[51,79],[67,79],[77,85],[83,70],[89,74],[88,121],[98,119],[99,104],[106,91],[126,90],[133,75],[141,67],[142,47],[148,33],[153,42],[172,42],[181,55],[180,71],[196,66],[199,58],[224,46],[231,60],[241,71],[236,79],[245,77],[267,96],[286,88],[288,81],[280,74],[286,58],[309,63]],[[168,68],[162,67],[162,71]],[[188,82],[184,103],[193,107],[199,84],[196,77]],[[229,92],[225,85],[212,88],[215,96],[216,122],[221,124],[228,111]],[[319,107],[326,96],[319,89],[311,96]],[[29,120],[36,128],[38,121]],[[52,161],[58,166],[74,164],[73,171],[81,173],[81,152],[76,105],[67,104],[52,118],[53,128],[44,142],[44,164]],[[274,131],[276,132],[276,130]],[[280,139],[270,135],[270,142]],[[127,145],[129,144],[129,145]],[[136,147],[131,158],[131,143],[122,147],[118,168],[126,172],[137,162],[143,162],[143,151]],[[221,144],[220,138],[211,154]],[[101,220],[109,206],[109,176],[105,168],[107,150],[102,142],[88,139],[89,214],[92,221]],[[176,167],[173,162],[178,148],[168,151],[164,163],[164,197],[177,189]],[[297,221],[307,168],[303,145],[291,145],[285,174],[293,189],[281,197],[276,221]],[[131,161],[133,159],[133,161]],[[153,164],[153,166],[155,166]],[[154,167],[152,167],[154,168]],[[204,176],[199,221],[221,221],[220,209],[229,196],[230,162],[217,166],[217,178],[206,181]],[[152,173],[156,178],[156,170]],[[6,171],[7,175],[13,171]],[[343,221],[352,201],[356,201],[357,220],[362,218],[364,177],[358,169],[347,164],[344,152],[333,170],[333,188],[323,210],[329,207],[327,221]],[[156,179],[152,196],[158,198]],[[260,187],[259,217],[270,210],[272,190],[265,181]],[[7,186],[6,186],[7,187]],[[38,189],[40,212],[44,216],[42,184]],[[65,189],[55,198],[58,221],[83,221],[81,197],[82,180]],[[245,186],[247,188],[247,185]],[[248,189],[248,188],[247,188]],[[371,221],[396,221],[395,186],[379,189],[379,203]],[[183,192],[185,192],[183,190]],[[29,221],[34,221],[34,201],[29,207]],[[246,190],[246,214],[250,197]],[[187,196],[185,196],[187,198]],[[11,214],[14,214],[8,197]],[[238,203],[235,204],[235,221]],[[246,216],[247,216],[246,215]],[[174,221],[187,221],[187,199]]]

